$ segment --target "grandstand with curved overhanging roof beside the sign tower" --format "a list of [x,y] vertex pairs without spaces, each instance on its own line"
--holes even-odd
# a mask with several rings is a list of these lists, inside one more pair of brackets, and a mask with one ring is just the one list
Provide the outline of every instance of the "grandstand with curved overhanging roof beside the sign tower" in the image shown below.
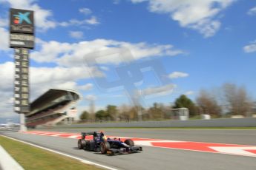
[[26,126],[54,126],[57,123],[73,122],[76,118],[76,103],[80,95],[70,89],[49,89],[30,104],[25,115]]

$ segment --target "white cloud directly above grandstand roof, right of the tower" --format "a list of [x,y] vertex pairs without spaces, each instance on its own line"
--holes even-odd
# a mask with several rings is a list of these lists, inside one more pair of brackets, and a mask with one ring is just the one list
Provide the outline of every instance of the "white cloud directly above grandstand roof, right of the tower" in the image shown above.
[[[32,99],[42,95],[50,88],[88,90],[91,84],[78,85],[76,81],[91,78],[85,67],[30,67],[30,86]],[[91,71],[96,77],[102,77],[102,73],[93,69]]]

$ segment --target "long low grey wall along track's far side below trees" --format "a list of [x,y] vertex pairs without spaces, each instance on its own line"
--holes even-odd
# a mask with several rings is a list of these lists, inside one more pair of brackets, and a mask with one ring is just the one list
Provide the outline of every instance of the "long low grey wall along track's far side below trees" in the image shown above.
[[[211,120],[165,120],[119,123],[83,123],[59,125],[56,128],[103,127],[256,127],[256,118],[220,118]],[[54,128],[54,127],[53,127]]]

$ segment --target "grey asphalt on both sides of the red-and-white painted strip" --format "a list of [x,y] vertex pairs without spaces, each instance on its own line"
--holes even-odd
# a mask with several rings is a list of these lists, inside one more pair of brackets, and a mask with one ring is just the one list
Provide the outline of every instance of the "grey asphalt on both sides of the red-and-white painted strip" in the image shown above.
[[[74,132],[95,129],[44,129],[44,131]],[[99,130],[99,129],[96,129]],[[102,129],[108,135],[126,137],[145,137],[164,140],[190,140],[211,143],[234,143],[256,145],[256,130],[174,130],[174,129]],[[78,150],[76,139],[49,137],[42,135],[4,132],[4,135],[30,143],[65,152],[85,160],[91,160],[115,169],[256,169],[256,157],[243,157],[230,154],[214,154],[177,149],[164,149],[143,146],[138,154],[107,156],[94,152]]]

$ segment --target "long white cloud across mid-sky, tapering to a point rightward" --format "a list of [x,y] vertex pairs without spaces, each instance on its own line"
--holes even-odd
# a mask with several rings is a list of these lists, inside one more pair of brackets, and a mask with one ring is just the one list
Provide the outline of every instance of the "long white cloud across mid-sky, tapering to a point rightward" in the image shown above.
[[[85,50],[87,47],[87,50]],[[131,52],[131,58],[125,58],[125,56],[119,56],[120,49],[127,49]],[[174,50],[171,45],[151,45],[145,43],[130,44],[128,42],[111,41],[104,39],[97,39],[94,41],[81,42],[79,48],[73,55],[66,55],[59,59],[59,64],[69,65],[70,60],[73,61],[72,64],[83,62],[83,58],[80,56],[85,56],[91,54],[92,52],[101,52],[101,58],[99,58],[99,64],[119,64],[122,61],[127,60],[138,60],[140,58],[150,58],[154,56],[163,55],[178,55],[182,54],[181,50]],[[113,55],[109,55],[109,52]],[[86,57],[91,57],[87,55]]]

